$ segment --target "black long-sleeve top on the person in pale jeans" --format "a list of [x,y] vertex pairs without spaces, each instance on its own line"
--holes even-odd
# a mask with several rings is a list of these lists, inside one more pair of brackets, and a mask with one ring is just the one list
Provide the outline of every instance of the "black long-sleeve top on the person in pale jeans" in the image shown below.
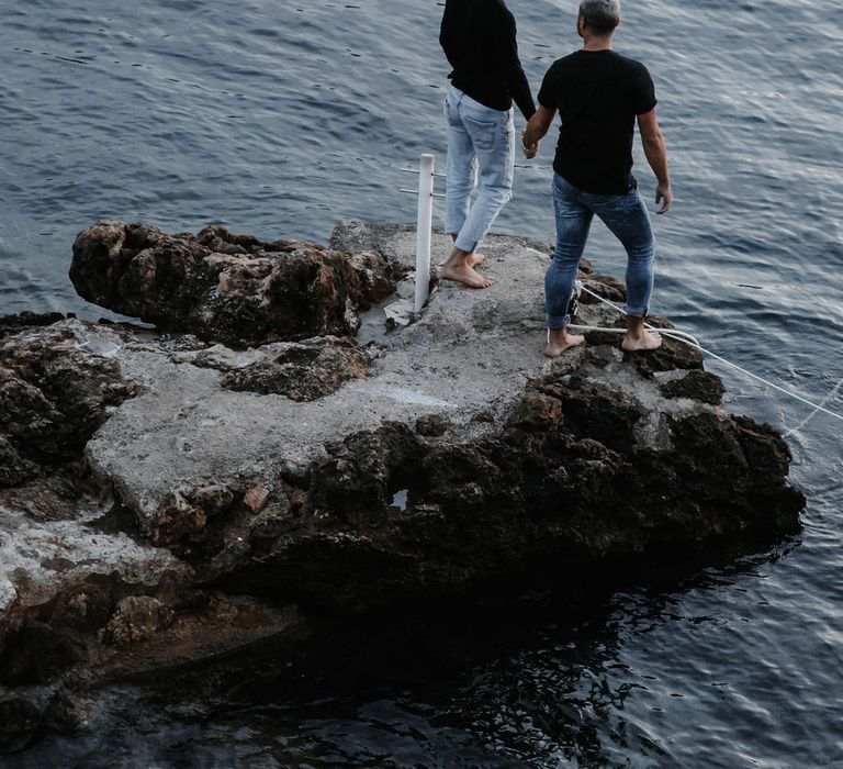
[[504,0],[446,0],[439,43],[456,88],[493,110],[513,101],[526,120],[536,112],[518,58],[515,16]]

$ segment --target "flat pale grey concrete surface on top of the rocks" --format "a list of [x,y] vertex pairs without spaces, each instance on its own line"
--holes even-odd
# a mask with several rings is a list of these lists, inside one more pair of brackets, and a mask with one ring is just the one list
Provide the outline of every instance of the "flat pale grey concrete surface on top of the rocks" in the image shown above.
[[[331,245],[375,246],[402,264],[415,260],[415,232],[407,229],[353,225]],[[449,249],[450,238],[436,236],[434,264]],[[393,331],[383,307],[371,310],[361,331],[376,356],[370,377],[314,402],[225,390],[217,371],[191,365],[190,353],[162,353],[151,335],[127,342],[79,324],[89,349],[116,356],[123,376],[146,388],[94,435],[90,465],[148,516],[173,490],[265,480],[284,466],[307,465],[326,442],[384,420],[415,424],[440,413],[452,424],[448,438],[457,441],[495,430],[495,422],[473,417],[488,411],[499,419],[527,378],[549,365],[541,352],[548,257],[508,236],[490,237],[484,250],[483,269],[497,285],[472,290],[442,282],[417,322]],[[260,348],[249,359],[259,355]]]

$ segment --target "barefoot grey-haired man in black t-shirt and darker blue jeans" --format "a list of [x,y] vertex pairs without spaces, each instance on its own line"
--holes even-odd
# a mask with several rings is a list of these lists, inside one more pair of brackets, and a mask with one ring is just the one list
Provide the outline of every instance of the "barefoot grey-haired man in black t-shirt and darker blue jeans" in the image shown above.
[[571,320],[567,308],[576,270],[595,214],[627,252],[627,333],[621,347],[634,352],[662,344],[657,333],[644,330],[653,288],[654,238],[650,214],[631,172],[636,121],[644,156],[656,178],[656,214],[671,208],[673,191],[650,73],[640,62],[611,49],[619,23],[618,0],[583,0],[576,20],[583,47],[550,67],[539,91],[539,108],[521,137],[529,157],[559,112],[562,125],[553,159],[557,246],[544,275],[544,355],[551,358],[583,343],[582,336],[569,333],[565,326]]

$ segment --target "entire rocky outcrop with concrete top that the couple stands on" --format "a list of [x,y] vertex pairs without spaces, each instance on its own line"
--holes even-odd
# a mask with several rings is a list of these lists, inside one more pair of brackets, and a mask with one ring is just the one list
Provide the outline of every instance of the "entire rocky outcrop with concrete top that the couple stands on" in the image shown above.
[[[411,230],[342,225],[330,250],[116,224],[80,241],[88,296],[194,333],[2,326],[0,715],[18,729],[0,727],[0,751],[75,723],[75,692],[109,677],[301,644],[314,608],[341,617],[542,559],[656,558],[798,525],[786,444],[727,411],[696,350],[630,355],[589,332],[543,358],[543,246],[491,237],[495,287],[439,285],[401,326],[398,286],[352,338],[336,335],[358,325],[349,307],[382,296],[359,265],[412,270]],[[434,258],[448,248],[437,235]],[[283,301],[255,288],[263,270]],[[293,275],[310,276],[299,293]],[[215,297],[235,283],[251,288]],[[323,288],[330,301],[294,316]],[[252,302],[257,323],[238,315]],[[577,320],[611,326],[611,312],[584,301]]]

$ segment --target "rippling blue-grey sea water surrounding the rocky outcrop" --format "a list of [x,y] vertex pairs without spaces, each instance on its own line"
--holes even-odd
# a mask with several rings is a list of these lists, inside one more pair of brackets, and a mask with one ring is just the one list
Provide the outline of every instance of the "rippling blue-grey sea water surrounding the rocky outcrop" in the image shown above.
[[[538,90],[577,47],[575,3],[509,5]],[[423,152],[443,161],[439,3],[0,8],[0,314],[104,314],[67,279],[97,220],[326,242],[342,219],[412,221],[400,169]],[[843,378],[843,7],[627,0],[616,49],[651,69],[676,193],[656,222],[653,312],[823,399]],[[551,144],[518,168],[497,230],[552,239]],[[637,165],[650,197],[638,148]],[[597,226],[587,256],[622,272]],[[739,413],[785,431],[811,411],[710,368]],[[827,405],[843,412],[843,392]],[[91,733],[0,766],[843,766],[841,435],[818,414],[789,437],[808,508],[785,542],[642,575],[574,615],[550,602],[492,622],[438,676],[408,657],[405,676],[330,673],[312,694],[223,692],[213,709],[128,710],[115,694]]]

